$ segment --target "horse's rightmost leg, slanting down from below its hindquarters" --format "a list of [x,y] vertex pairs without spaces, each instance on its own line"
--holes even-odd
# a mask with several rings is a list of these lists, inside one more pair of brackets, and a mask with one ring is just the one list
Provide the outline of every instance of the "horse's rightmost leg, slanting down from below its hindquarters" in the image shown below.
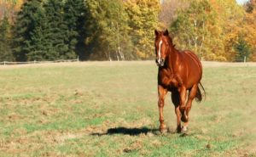
[[185,112],[182,115],[182,121],[184,122],[183,124],[183,131],[187,131],[187,128],[189,126],[189,111],[192,106],[192,101],[194,100],[197,92],[197,85],[195,84],[190,90],[189,90],[189,98],[186,104]]

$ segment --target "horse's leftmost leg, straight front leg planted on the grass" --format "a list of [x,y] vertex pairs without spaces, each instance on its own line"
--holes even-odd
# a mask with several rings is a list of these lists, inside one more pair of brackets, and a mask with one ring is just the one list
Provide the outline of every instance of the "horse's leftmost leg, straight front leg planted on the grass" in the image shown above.
[[158,107],[159,107],[159,121],[160,121],[160,132],[165,132],[166,125],[164,122],[164,106],[165,106],[165,97],[167,90],[162,86],[158,86]]

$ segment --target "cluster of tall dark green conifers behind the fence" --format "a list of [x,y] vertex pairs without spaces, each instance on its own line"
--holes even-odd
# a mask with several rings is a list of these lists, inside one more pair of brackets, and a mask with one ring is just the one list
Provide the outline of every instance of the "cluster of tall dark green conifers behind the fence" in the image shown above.
[[20,61],[75,59],[78,42],[84,43],[83,25],[83,0],[28,0],[14,26],[15,57]]

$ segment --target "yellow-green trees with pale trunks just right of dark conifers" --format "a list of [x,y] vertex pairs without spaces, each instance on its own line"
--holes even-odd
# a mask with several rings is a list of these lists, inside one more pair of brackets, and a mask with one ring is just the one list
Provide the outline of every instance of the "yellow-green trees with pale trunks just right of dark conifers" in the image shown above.
[[85,43],[90,59],[132,59],[130,30],[121,0],[88,0]]

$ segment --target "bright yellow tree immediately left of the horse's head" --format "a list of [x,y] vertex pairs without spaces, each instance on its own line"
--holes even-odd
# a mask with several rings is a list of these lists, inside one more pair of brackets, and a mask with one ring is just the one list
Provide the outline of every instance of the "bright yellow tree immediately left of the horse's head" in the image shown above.
[[129,26],[134,52],[137,59],[154,58],[154,29],[159,26],[159,0],[127,0],[125,11],[129,16]]

